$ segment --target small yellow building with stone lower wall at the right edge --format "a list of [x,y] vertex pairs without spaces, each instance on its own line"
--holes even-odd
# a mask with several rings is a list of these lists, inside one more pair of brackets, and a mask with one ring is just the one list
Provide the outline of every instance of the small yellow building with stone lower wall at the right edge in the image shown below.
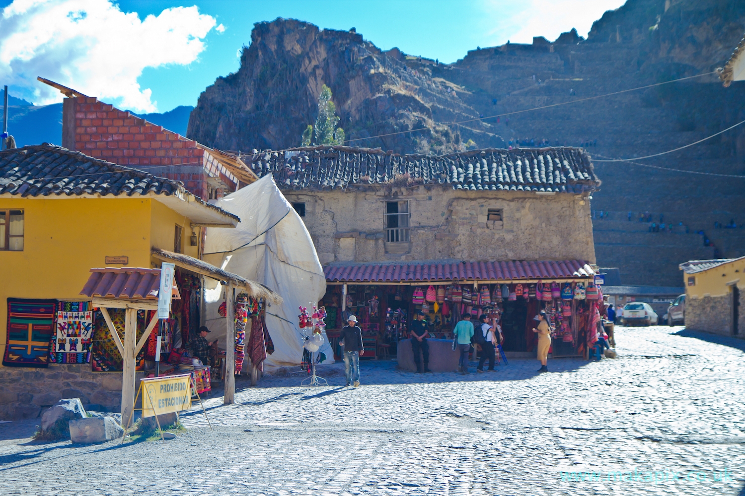
[[679,265],[685,284],[685,326],[745,338],[745,257]]

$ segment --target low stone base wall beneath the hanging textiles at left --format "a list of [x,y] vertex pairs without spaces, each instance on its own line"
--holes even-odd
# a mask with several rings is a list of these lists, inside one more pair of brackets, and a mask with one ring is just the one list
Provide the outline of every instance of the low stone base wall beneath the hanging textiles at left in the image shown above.
[[63,398],[80,398],[86,408],[96,405],[94,410],[118,411],[121,372],[91,372],[90,364],[0,367],[0,419],[34,419]]

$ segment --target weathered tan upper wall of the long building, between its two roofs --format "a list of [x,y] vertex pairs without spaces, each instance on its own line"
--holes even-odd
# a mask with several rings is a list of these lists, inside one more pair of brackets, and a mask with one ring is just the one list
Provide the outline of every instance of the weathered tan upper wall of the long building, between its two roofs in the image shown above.
[[[589,200],[568,193],[383,187],[285,191],[305,203],[303,221],[323,265],[411,260],[586,260],[595,263]],[[410,243],[385,240],[385,202],[410,202]],[[487,222],[501,209],[502,225]]]

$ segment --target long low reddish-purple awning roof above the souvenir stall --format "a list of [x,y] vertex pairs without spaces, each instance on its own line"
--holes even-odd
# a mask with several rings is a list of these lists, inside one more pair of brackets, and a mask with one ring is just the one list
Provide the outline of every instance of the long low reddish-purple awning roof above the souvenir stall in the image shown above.
[[583,260],[510,260],[509,262],[376,263],[329,265],[326,280],[340,283],[407,283],[458,280],[529,280],[590,277]]

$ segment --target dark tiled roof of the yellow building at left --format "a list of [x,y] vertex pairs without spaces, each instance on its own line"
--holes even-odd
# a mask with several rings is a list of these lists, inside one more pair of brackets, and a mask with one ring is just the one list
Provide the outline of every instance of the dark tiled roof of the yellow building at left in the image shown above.
[[22,197],[49,195],[174,196],[197,202],[221,216],[232,213],[189,193],[180,181],[160,178],[142,170],[112,164],[62,146],[44,143],[0,152],[0,195]]

